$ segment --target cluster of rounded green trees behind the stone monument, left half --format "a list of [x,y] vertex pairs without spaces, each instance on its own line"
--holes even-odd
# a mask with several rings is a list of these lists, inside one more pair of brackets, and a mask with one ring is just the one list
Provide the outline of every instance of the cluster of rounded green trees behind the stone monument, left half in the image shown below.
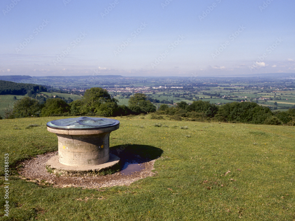
[[[38,97],[39,98],[39,97]],[[5,118],[49,117],[49,116],[127,116],[155,112],[156,106],[147,100],[145,94],[136,93],[128,101],[128,106],[118,105],[103,88],[87,89],[82,99],[67,103],[60,98],[37,100],[25,97],[16,101],[13,109],[5,113]]]

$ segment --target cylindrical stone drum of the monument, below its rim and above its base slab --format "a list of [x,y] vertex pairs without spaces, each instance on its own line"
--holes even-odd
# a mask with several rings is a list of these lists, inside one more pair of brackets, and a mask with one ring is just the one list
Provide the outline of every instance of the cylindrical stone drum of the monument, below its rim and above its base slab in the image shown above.
[[110,133],[57,134],[59,162],[66,166],[94,166],[109,160]]

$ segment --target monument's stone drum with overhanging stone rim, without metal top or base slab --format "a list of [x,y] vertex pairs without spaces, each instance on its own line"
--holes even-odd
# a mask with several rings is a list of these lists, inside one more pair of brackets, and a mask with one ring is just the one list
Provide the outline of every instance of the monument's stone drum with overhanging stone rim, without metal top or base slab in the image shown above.
[[[96,118],[94,118],[94,120],[95,119]],[[81,121],[82,120],[85,120],[84,117]],[[92,121],[92,118],[89,118],[88,120]],[[47,125],[47,130],[55,133],[58,137],[58,160],[60,164],[75,167],[91,167],[108,162],[109,136],[112,131],[119,128],[119,121],[114,121],[117,123],[114,126],[92,130],[73,130],[67,128],[59,129],[51,128]]]

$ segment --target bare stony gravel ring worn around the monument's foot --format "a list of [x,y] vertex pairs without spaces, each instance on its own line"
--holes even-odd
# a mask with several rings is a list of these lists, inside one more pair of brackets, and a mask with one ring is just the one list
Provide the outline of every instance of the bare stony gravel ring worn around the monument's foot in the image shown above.
[[[57,155],[58,151],[37,155],[35,158],[22,162],[22,168],[19,169],[19,174],[22,179],[29,182],[36,182],[40,185],[52,185],[53,187],[83,187],[83,188],[101,188],[113,186],[129,186],[131,183],[153,176],[152,170],[154,169],[155,160],[143,161],[140,156],[136,155],[133,161],[140,162],[142,169],[133,172],[129,175],[124,175],[120,171],[114,174],[105,176],[87,176],[87,177],[65,177],[50,174],[46,169],[46,162]],[[121,158],[121,156],[120,156]],[[122,159],[122,163],[127,162],[127,159]]]

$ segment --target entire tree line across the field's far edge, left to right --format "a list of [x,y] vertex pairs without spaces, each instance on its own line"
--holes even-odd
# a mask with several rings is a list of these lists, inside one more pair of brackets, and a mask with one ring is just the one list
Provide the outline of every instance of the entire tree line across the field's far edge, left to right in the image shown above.
[[[38,97],[39,98],[39,97]],[[25,97],[8,109],[5,118],[48,117],[48,116],[127,116],[153,113],[152,119],[162,119],[163,115],[172,120],[219,121],[229,123],[252,123],[271,125],[295,125],[295,107],[285,112],[272,112],[254,102],[232,102],[224,105],[211,104],[209,101],[197,100],[188,104],[184,101],[176,106],[151,103],[150,98],[142,93],[130,96],[128,106],[119,105],[106,89],[87,89],[82,99],[67,103],[67,100],[50,98],[37,100]],[[1,117],[0,117],[1,118]]]

